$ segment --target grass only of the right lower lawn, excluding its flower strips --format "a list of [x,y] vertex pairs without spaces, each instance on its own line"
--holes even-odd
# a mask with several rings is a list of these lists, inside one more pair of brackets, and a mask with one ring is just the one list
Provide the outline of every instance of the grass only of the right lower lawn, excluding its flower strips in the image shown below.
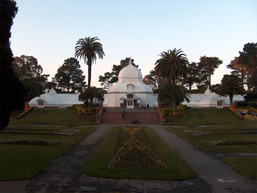
[[[256,140],[256,134],[252,135],[201,135],[201,136],[192,136],[182,130],[191,130],[191,129],[208,129],[204,128],[174,128],[174,127],[166,127],[169,131],[176,133],[180,137],[186,139],[190,143],[204,149],[206,151],[215,151],[215,152],[256,152],[256,145],[211,145],[206,143],[206,141],[224,141],[224,140]],[[217,126],[217,127],[209,127],[210,129],[256,129],[256,126]]]

